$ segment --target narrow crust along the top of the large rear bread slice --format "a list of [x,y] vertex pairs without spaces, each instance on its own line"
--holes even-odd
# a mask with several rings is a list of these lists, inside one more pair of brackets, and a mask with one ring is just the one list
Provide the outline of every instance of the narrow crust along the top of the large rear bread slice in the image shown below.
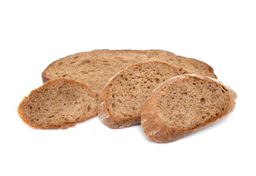
[[[76,57],[76,56],[82,56],[84,54],[87,54],[87,53],[92,53],[92,52],[98,52],[98,53],[102,53],[104,55],[104,52],[124,52],[124,53],[129,53],[129,52],[138,52],[138,53],[148,53],[148,52],[163,52],[163,53],[166,53],[166,54],[171,54],[173,55],[174,57],[178,58],[178,57],[182,57],[182,58],[186,58],[186,59],[191,59],[193,61],[196,61],[198,63],[201,63],[203,65],[206,65],[209,73],[212,75],[213,78],[217,78],[217,76],[214,74],[214,71],[213,71],[213,67],[210,67],[210,65],[207,65],[207,63],[205,62],[202,62],[202,61],[199,61],[197,59],[193,59],[193,58],[189,58],[189,57],[185,57],[185,56],[177,56],[176,54],[173,54],[169,51],[164,51],[164,50],[157,50],[157,49],[152,49],[152,50],[108,50],[108,49],[103,49],[103,50],[93,50],[93,51],[85,51],[85,52],[79,52],[77,54],[71,54],[71,55],[68,55],[68,56],[65,56],[63,58],[60,58],[60,59],[57,59],[56,61],[52,62],[50,65],[48,65],[48,67],[46,67],[45,70],[43,70],[43,73],[41,74],[42,76],[42,79],[43,79],[43,83],[46,83],[47,81],[51,80],[51,78],[49,78],[48,76],[46,76],[46,72],[50,69],[50,67],[52,67],[56,62],[60,62],[60,60],[62,59],[65,59],[67,57]],[[143,59],[138,59],[138,62],[143,62],[145,60]],[[99,93],[101,91],[97,91],[97,90],[94,90],[92,89],[93,92],[95,92],[97,95],[99,95]]]

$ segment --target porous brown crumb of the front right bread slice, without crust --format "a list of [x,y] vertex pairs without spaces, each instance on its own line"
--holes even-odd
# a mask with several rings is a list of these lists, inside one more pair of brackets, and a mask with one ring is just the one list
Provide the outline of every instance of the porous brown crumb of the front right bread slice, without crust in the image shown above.
[[230,106],[228,90],[215,81],[188,77],[176,81],[162,95],[157,108],[163,125],[192,130],[216,121]]

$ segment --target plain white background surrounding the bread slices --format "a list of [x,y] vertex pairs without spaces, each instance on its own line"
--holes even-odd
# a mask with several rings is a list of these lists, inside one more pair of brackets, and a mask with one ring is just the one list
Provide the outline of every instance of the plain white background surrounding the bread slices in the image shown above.
[[[256,175],[255,1],[1,1],[0,175]],[[211,65],[238,94],[224,120],[167,144],[140,125],[92,117],[30,128],[25,95],[56,59],[94,49],[163,49]]]

